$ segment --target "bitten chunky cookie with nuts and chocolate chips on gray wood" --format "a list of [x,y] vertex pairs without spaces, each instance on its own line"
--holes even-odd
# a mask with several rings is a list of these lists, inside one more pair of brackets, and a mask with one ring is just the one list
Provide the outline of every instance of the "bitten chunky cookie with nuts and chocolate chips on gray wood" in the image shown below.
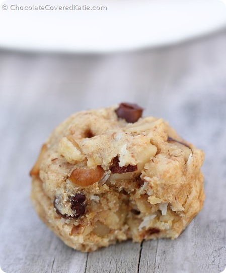
[[142,111],[122,103],[74,114],[42,146],[31,200],[68,246],[175,239],[202,209],[203,151]]

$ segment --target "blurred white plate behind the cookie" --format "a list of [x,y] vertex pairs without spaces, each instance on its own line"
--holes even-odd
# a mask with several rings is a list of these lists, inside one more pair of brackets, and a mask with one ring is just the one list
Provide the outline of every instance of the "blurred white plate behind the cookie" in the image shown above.
[[[172,44],[224,28],[226,6],[222,1],[9,0],[0,8],[0,47],[114,52]],[[106,6],[107,11],[12,11],[15,3],[32,9],[33,5]],[[3,5],[8,10],[3,10]]]

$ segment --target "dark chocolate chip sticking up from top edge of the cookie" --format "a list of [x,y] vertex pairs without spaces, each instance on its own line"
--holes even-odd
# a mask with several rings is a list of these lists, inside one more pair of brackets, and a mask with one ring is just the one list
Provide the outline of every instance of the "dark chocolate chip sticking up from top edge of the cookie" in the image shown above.
[[137,104],[121,103],[115,112],[118,118],[134,123],[142,116],[143,108]]

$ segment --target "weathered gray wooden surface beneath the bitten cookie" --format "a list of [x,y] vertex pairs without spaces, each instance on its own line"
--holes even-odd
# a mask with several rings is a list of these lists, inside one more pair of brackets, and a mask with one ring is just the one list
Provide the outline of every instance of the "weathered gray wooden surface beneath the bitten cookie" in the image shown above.
[[[226,266],[226,32],[109,55],[0,51],[0,265],[7,273],[221,272]],[[203,210],[176,240],[65,246],[29,200],[41,144],[73,112],[136,102],[205,151]]]

